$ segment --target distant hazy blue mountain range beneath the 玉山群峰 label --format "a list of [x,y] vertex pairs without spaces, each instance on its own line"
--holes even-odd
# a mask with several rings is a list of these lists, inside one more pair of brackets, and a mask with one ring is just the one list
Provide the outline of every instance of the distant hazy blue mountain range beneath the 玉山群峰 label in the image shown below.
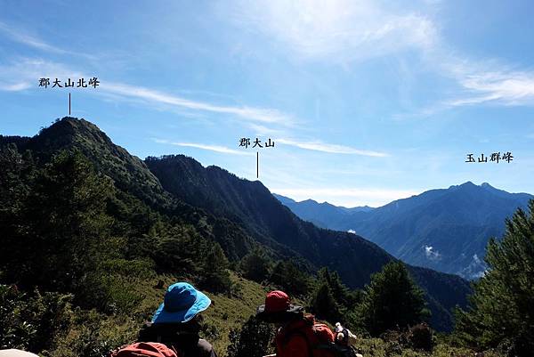
[[534,198],[471,182],[425,191],[378,208],[345,208],[311,199],[295,202],[276,197],[304,220],[355,232],[406,263],[466,279],[481,276],[488,240],[500,238],[506,217],[519,207],[526,208]]

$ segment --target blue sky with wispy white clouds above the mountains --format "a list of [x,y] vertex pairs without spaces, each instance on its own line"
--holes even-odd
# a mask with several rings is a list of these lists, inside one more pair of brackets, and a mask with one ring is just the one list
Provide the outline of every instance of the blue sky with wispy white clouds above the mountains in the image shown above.
[[[534,192],[530,1],[0,2],[0,134],[68,114],[293,199],[380,206],[472,181]],[[466,164],[510,151],[511,163]]]

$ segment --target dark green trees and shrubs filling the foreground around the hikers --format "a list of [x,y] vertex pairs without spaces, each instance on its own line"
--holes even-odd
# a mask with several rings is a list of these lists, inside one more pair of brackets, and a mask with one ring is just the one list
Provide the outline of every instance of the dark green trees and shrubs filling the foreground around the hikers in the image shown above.
[[[230,263],[205,217],[194,221],[185,208],[167,215],[150,207],[78,151],[43,158],[8,144],[0,148],[0,166],[1,348],[104,356],[134,341],[176,280],[213,298],[202,333],[219,355],[265,353],[271,329],[250,316],[271,288],[286,289],[320,319],[339,320],[360,336],[397,327],[404,334],[424,320],[423,293],[401,263],[385,265],[364,291],[346,288],[336,272],[324,269],[315,278],[293,262],[271,262],[260,250]],[[505,239],[490,243],[490,270],[475,286],[472,308],[458,312],[457,342],[501,347],[509,355],[532,351],[532,219],[532,212],[520,211]],[[422,355],[399,341],[362,338],[360,349]],[[433,355],[443,351],[449,357],[468,350],[441,342]]]

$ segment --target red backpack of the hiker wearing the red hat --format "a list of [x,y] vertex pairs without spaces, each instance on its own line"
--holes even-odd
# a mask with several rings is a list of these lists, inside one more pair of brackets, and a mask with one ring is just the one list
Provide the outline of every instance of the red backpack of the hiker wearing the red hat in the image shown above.
[[[276,336],[277,357],[333,357],[334,353],[313,346],[334,342],[334,333],[327,325],[297,320],[279,330]],[[310,353],[309,348],[312,348]]]

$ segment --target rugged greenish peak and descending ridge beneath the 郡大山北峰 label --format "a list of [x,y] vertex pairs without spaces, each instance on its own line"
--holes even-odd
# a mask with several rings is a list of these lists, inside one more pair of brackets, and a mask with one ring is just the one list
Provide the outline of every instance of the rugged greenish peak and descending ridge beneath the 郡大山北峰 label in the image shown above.
[[229,259],[237,260],[255,246],[255,241],[236,223],[175,199],[140,158],[115,145],[97,126],[84,119],[63,118],[32,138],[0,136],[0,143],[16,144],[21,152],[31,150],[40,162],[47,162],[61,150],[77,150],[89,158],[101,174],[113,179],[118,191],[134,195],[150,207],[192,224],[204,236],[221,244]]

